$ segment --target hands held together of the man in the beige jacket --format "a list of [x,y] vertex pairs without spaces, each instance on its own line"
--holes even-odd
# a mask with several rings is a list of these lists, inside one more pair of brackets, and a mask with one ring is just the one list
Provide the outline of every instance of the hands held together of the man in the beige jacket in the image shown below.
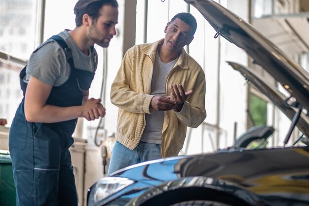
[[186,98],[192,94],[192,90],[185,92],[183,86],[179,84],[170,85],[171,95],[169,96],[154,96],[151,100],[151,107],[157,111],[167,111],[176,109],[181,111]]

